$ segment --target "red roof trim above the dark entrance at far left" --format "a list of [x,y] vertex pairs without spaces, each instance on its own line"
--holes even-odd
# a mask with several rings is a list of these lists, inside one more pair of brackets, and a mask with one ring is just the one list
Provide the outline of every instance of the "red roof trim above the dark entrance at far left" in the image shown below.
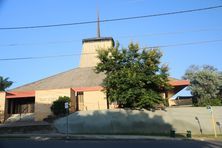
[[35,91],[18,91],[18,92],[6,92],[6,98],[27,98],[35,97]]

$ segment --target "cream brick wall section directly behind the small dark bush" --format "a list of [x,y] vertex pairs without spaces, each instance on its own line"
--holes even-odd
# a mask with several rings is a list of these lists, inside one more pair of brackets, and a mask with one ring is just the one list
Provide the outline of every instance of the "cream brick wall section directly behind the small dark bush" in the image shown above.
[[67,89],[52,89],[38,90],[35,92],[35,120],[42,121],[44,118],[52,115],[50,107],[53,101],[59,96],[67,96],[71,98],[71,90]]

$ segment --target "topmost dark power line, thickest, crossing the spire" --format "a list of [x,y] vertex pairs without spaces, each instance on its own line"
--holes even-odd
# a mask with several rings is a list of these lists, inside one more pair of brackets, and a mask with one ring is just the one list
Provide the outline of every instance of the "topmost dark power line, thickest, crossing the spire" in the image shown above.
[[[167,15],[175,15],[175,14],[183,14],[183,13],[191,13],[198,11],[206,11],[212,9],[221,8],[222,5],[198,8],[198,9],[189,9],[189,10],[181,10],[181,11],[173,11],[166,13],[157,13],[157,14],[148,14],[141,16],[131,16],[131,17],[123,17],[123,18],[113,18],[113,19],[104,19],[99,22],[114,22],[114,21],[124,21],[124,20],[132,20],[132,19],[142,19],[142,18],[150,18],[150,17],[158,17],[158,16],[167,16]],[[50,27],[62,27],[62,26],[74,26],[74,25],[84,25],[84,24],[92,24],[97,23],[97,20],[94,21],[84,21],[84,22],[73,22],[73,23],[62,23],[62,24],[51,24],[51,25],[35,25],[35,26],[18,26],[18,27],[1,27],[0,30],[19,30],[19,29],[37,29],[37,28],[50,28]]]

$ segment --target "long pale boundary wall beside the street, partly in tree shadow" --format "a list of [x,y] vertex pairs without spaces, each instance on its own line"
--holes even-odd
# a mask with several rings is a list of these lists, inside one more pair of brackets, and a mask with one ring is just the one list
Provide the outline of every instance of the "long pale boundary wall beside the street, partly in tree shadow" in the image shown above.
[[[213,107],[215,122],[222,124],[222,107]],[[198,119],[198,120],[197,120]],[[55,121],[59,132],[66,132],[66,118]],[[69,115],[69,133],[74,134],[214,134],[211,113],[205,107],[167,108],[166,111],[97,110]],[[221,127],[222,128],[222,127]],[[222,134],[216,125],[218,134]]]

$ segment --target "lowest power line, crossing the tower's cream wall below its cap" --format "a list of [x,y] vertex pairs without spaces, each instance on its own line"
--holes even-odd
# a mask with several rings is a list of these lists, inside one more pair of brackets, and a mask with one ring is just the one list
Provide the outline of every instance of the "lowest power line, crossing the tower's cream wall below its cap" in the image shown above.
[[[159,45],[159,46],[148,46],[144,47],[147,49],[153,48],[168,48],[175,46],[188,46],[188,45],[198,45],[198,44],[207,44],[207,43],[216,43],[222,42],[222,39],[218,40],[206,40],[206,41],[197,41],[197,42],[187,42],[187,43],[178,43],[178,44],[168,44],[168,45]],[[142,49],[144,49],[142,48]],[[66,55],[53,55],[53,56],[36,56],[36,57],[17,57],[17,58],[2,58],[0,61],[17,61],[17,60],[34,60],[34,59],[49,59],[49,58],[61,58],[61,57],[71,57],[79,55],[88,55],[88,54],[97,54],[97,53],[77,53],[77,54],[66,54]]]

